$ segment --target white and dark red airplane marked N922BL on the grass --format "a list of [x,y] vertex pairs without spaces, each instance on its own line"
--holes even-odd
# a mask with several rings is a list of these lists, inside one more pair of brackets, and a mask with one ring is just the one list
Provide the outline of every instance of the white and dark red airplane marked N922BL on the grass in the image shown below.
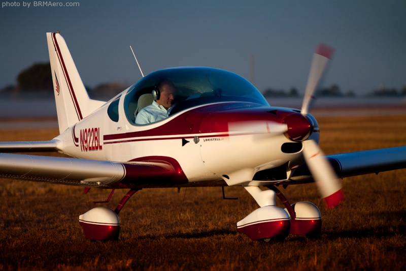
[[[260,207],[237,223],[253,240],[315,234],[321,230],[317,206],[290,204],[277,186],[316,182],[332,207],[343,199],[339,178],[406,168],[406,146],[322,154],[309,110],[333,52],[327,45],[316,49],[297,110],[271,107],[244,78],[205,67],[159,70],[108,102],[92,100],[62,36],[47,33],[47,40],[60,135],[0,142],[0,177],[81,186],[85,193],[111,189],[110,197],[129,189],[115,210],[95,207],[79,216],[87,238],[117,239],[121,208],[143,188],[207,186],[243,186],[254,197]],[[175,86],[175,106],[161,121],[136,124],[138,112],[159,96],[162,79]],[[73,158],[12,154],[21,152]],[[285,209],[276,206],[276,196]]]

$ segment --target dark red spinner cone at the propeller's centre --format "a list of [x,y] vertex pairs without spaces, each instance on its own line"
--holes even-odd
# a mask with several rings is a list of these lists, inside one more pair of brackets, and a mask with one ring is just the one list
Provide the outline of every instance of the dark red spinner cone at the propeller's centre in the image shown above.
[[283,123],[288,126],[285,136],[292,141],[307,139],[313,130],[310,119],[300,113],[292,113],[286,116]]

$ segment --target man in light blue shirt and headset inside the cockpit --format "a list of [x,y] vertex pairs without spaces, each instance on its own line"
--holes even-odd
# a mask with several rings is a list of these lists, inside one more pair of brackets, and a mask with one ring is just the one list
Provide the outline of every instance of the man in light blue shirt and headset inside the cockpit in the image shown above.
[[149,124],[167,118],[174,107],[175,91],[175,85],[171,80],[160,80],[152,91],[155,100],[140,110],[136,124]]

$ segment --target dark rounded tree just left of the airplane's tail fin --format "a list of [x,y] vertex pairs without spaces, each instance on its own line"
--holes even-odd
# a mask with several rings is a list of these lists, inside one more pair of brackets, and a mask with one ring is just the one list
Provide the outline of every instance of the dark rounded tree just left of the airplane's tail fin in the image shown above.
[[17,76],[21,91],[48,91],[53,89],[50,63],[36,63]]

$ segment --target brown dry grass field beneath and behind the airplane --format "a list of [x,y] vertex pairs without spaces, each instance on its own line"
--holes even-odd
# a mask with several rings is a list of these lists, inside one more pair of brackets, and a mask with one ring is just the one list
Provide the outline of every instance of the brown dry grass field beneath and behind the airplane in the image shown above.
[[[326,154],[406,145],[406,116],[318,117]],[[0,141],[47,140],[58,129],[2,130]],[[0,180],[0,270],[325,270],[406,268],[406,170],[345,178],[345,199],[326,210],[314,184],[281,191],[322,213],[317,238],[253,242],[236,222],[257,204],[242,187],[144,189],[120,213],[118,242],[84,238],[80,214],[110,191]],[[127,191],[116,191],[115,208]],[[182,202],[184,200],[183,206]],[[277,204],[282,206],[280,202]],[[181,212],[182,209],[182,213]]]

